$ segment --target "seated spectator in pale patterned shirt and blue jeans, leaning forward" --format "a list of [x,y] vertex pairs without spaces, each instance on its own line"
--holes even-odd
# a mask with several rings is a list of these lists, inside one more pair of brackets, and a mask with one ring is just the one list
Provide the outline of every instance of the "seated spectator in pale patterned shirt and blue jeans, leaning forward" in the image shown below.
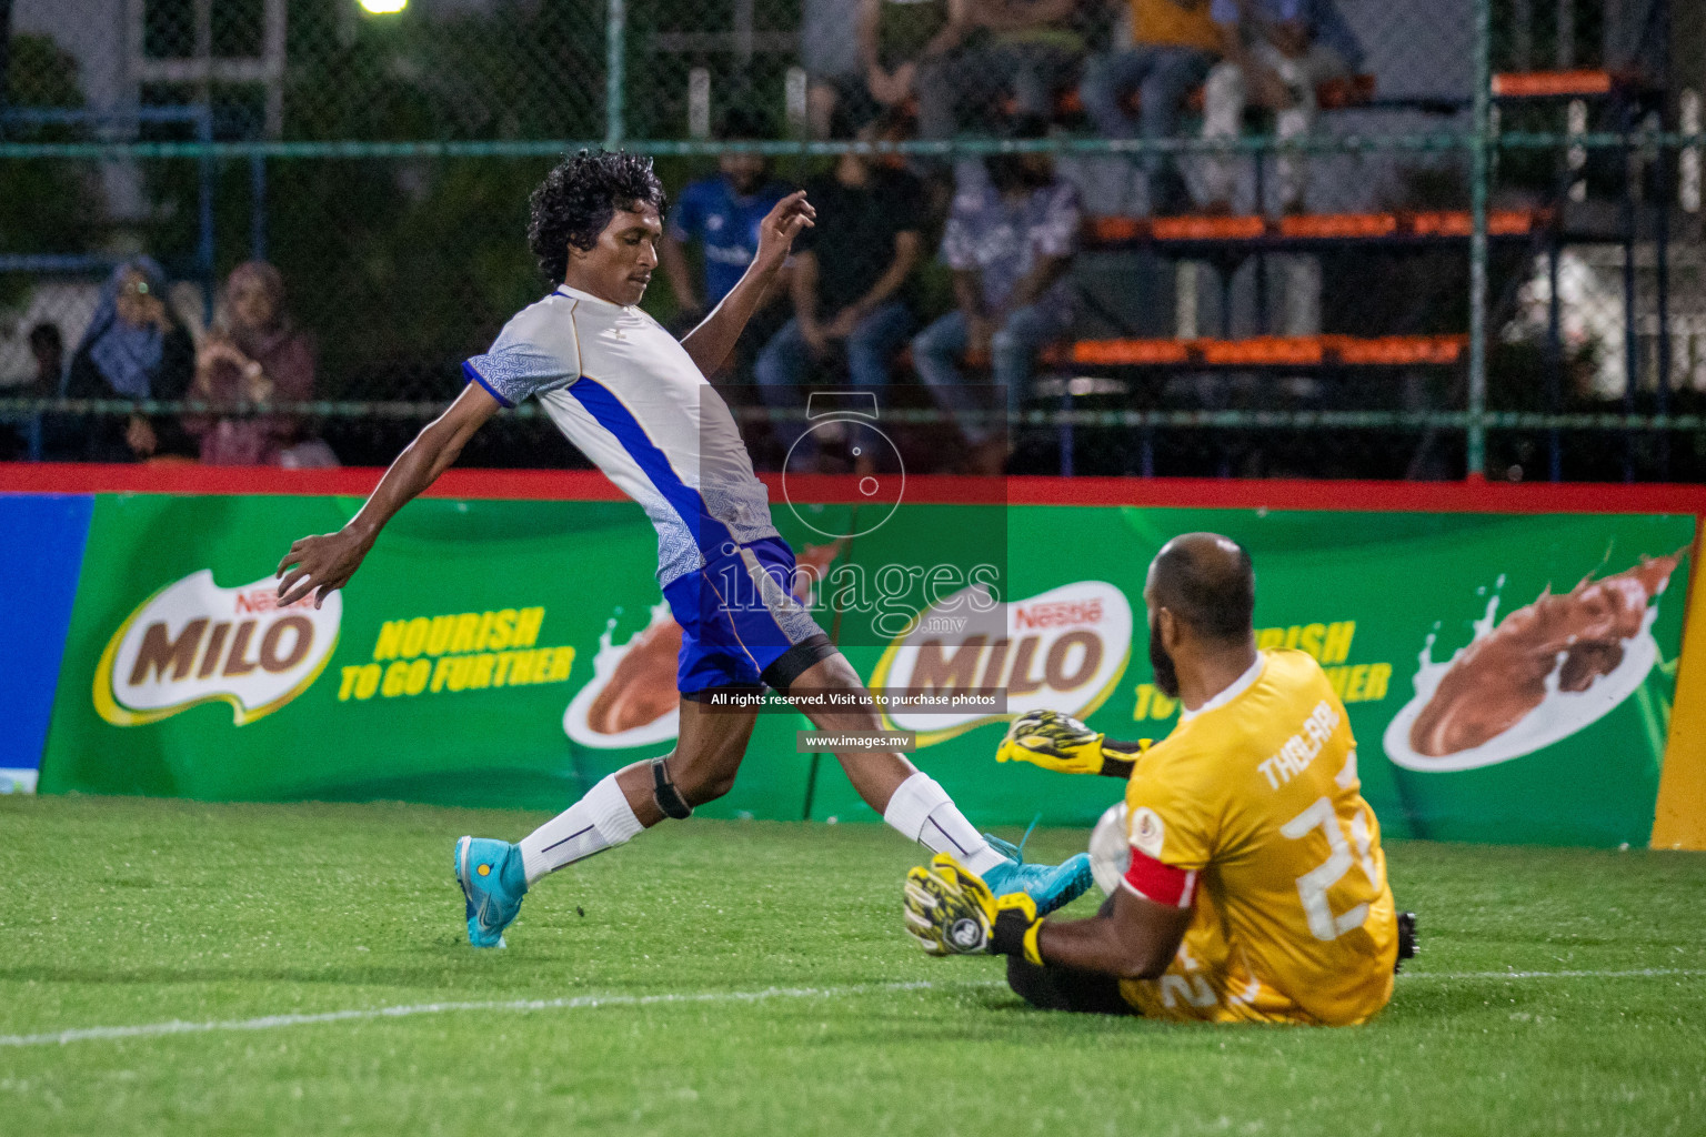
[[[1015,135],[1041,136],[1036,121]],[[913,365],[937,402],[954,414],[1018,413],[1037,349],[1071,329],[1066,269],[1078,249],[1083,206],[1054,176],[1049,153],[996,153],[959,167],[959,186],[942,235],[959,307],[913,339]],[[998,397],[966,385],[959,360],[989,353]],[[1001,423],[962,421],[972,469],[998,474],[1008,455]]]

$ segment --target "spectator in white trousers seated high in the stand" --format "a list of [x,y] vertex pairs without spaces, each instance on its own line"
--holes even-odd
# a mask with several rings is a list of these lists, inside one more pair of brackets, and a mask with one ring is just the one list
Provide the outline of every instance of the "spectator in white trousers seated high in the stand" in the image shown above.
[[[1307,135],[1319,107],[1315,87],[1349,80],[1363,61],[1356,32],[1332,0],[1215,0],[1215,19],[1230,27],[1227,58],[1203,89],[1203,136],[1237,138],[1244,107],[1274,111],[1281,140]],[[1211,159],[1204,167],[1210,211],[1232,211],[1239,159]],[[1300,213],[1309,177],[1300,157],[1274,160],[1280,210]],[[1256,203],[1262,213],[1266,203]]]

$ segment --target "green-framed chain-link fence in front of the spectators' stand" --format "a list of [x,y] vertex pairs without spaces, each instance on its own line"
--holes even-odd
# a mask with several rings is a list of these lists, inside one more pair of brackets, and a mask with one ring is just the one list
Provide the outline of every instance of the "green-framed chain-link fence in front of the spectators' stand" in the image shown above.
[[[657,157],[672,327],[819,203],[717,377],[761,465],[800,392],[882,384],[908,469],[974,467],[996,382],[1015,472],[1706,481],[1674,0],[0,17],[10,457],[389,460],[543,293],[531,189],[604,143]],[[464,460],[578,457],[522,407]]]

